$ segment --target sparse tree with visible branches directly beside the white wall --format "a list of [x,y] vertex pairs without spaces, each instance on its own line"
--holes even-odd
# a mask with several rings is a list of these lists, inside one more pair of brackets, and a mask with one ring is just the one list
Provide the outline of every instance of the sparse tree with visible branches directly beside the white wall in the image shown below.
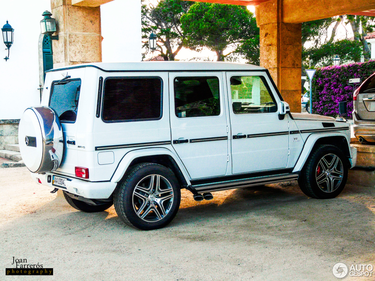
[[148,36],[155,30],[158,37],[157,51],[164,60],[174,60],[181,50],[183,34],[181,30],[181,16],[193,4],[192,1],[161,0],[154,6],[142,0],[142,38],[148,49]]

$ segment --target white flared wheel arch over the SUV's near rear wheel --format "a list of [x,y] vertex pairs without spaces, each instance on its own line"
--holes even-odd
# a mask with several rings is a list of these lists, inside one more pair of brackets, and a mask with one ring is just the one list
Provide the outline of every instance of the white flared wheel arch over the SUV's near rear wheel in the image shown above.
[[190,185],[188,173],[180,159],[166,148],[144,148],[127,152],[118,164],[111,182],[119,182],[131,167],[140,163],[155,163],[168,167],[181,186]]

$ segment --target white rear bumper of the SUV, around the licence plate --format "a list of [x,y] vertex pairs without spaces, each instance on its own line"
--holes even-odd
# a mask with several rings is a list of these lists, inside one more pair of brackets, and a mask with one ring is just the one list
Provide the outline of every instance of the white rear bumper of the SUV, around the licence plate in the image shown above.
[[[56,175],[61,176],[63,178],[67,178],[66,180],[66,189],[63,187],[52,186],[52,182],[48,182],[47,178],[48,175]],[[45,173],[45,174],[38,174],[38,173],[31,173],[31,178],[34,179],[38,184],[38,179],[42,182],[43,185],[46,185],[51,188],[59,188],[61,190],[66,190],[69,193],[77,194],[79,196],[83,196],[89,199],[107,199],[111,196],[113,191],[116,188],[117,182],[90,182],[90,181],[83,181],[77,178],[69,178],[69,176],[57,175],[54,173]]]

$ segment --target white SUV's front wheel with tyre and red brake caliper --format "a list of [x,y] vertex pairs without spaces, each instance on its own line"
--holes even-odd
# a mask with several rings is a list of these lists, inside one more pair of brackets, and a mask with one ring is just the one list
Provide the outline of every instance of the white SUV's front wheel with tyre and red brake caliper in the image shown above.
[[348,178],[348,160],[333,145],[320,145],[309,156],[300,172],[298,183],[309,197],[329,199],[338,196]]

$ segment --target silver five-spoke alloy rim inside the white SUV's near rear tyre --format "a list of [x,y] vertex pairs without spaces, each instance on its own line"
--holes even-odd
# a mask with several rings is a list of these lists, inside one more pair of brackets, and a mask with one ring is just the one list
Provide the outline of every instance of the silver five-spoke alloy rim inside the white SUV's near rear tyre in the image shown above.
[[160,175],[148,175],[136,184],[132,204],[139,218],[155,222],[169,213],[173,197],[172,185],[168,179]]

